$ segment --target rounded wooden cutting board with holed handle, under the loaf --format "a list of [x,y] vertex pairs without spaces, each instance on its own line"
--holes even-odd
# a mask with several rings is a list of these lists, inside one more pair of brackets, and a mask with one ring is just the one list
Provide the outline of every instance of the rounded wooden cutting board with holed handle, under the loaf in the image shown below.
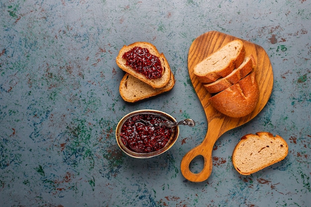
[[[212,150],[217,139],[227,131],[239,127],[257,116],[268,102],[272,92],[273,72],[267,53],[259,45],[241,39],[244,43],[246,56],[252,54],[257,63],[254,71],[260,90],[258,104],[251,114],[241,118],[228,117],[210,105],[208,99],[211,97],[211,94],[198,81],[193,73],[193,68],[208,55],[234,39],[239,38],[217,31],[210,31],[197,37],[189,49],[188,70],[190,79],[204,108],[208,122],[208,131],[203,142],[191,149],[181,161],[181,172],[183,176],[192,182],[202,182],[208,179],[213,167]],[[203,170],[199,173],[193,173],[189,169],[189,164],[199,155],[204,157]]]

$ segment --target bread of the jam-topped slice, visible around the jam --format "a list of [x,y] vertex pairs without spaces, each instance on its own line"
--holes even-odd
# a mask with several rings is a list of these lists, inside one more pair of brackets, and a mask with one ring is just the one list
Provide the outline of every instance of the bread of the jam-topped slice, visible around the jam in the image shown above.
[[[149,53],[152,55],[155,55],[161,62],[161,67],[163,68],[162,76],[160,78],[156,79],[149,79],[144,74],[137,72],[132,67],[128,66],[126,64],[126,60],[122,58],[123,54],[132,50],[134,47],[141,47],[141,48],[147,48],[149,50]],[[129,46],[123,46],[121,50],[119,51],[119,54],[116,58],[116,63],[119,66],[120,69],[124,70],[125,72],[133,75],[134,77],[140,79],[141,81],[149,84],[153,88],[161,88],[164,87],[169,79],[170,79],[170,68],[167,63],[166,58],[164,57],[163,53],[159,53],[156,49],[156,46],[152,45],[148,42],[135,42]]]

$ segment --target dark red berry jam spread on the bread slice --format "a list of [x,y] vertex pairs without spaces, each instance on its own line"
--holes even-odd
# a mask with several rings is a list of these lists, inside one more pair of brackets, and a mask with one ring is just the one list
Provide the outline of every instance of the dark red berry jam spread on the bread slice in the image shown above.
[[148,79],[156,79],[162,76],[161,62],[158,57],[149,53],[147,48],[134,47],[123,54],[126,65],[137,72],[144,74]]

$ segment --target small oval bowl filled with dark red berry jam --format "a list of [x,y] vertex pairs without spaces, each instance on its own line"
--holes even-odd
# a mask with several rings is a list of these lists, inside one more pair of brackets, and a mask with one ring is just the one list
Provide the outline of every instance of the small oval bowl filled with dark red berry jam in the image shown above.
[[177,140],[179,127],[160,125],[176,120],[161,111],[138,110],[124,116],[116,128],[116,139],[124,153],[135,158],[150,158],[167,151]]

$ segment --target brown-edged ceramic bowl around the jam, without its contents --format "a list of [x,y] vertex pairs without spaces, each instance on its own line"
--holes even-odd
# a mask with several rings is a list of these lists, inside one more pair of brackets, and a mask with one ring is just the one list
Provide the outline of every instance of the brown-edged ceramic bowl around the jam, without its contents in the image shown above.
[[134,158],[151,158],[151,157],[155,157],[157,155],[160,155],[164,152],[166,152],[168,149],[170,149],[174,143],[176,142],[178,136],[179,136],[179,127],[173,127],[172,128],[172,136],[171,138],[169,138],[168,142],[165,144],[164,147],[162,147],[161,149],[154,151],[154,152],[148,152],[148,153],[139,153],[139,152],[134,152],[132,150],[130,150],[129,148],[127,148],[121,141],[121,138],[119,136],[122,125],[125,123],[126,120],[128,120],[129,118],[137,115],[137,114],[154,114],[157,116],[160,116],[164,119],[168,119],[170,121],[176,122],[176,119],[174,117],[172,117],[171,115],[163,112],[163,111],[158,111],[158,110],[154,110],[154,109],[141,109],[141,110],[136,110],[133,112],[128,113],[127,115],[125,115],[122,119],[120,119],[117,127],[116,127],[116,131],[115,131],[115,136],[116,136],[116,140],[118,143],[118,146],[120,147],[120,149],[127,155],[134,157]]

